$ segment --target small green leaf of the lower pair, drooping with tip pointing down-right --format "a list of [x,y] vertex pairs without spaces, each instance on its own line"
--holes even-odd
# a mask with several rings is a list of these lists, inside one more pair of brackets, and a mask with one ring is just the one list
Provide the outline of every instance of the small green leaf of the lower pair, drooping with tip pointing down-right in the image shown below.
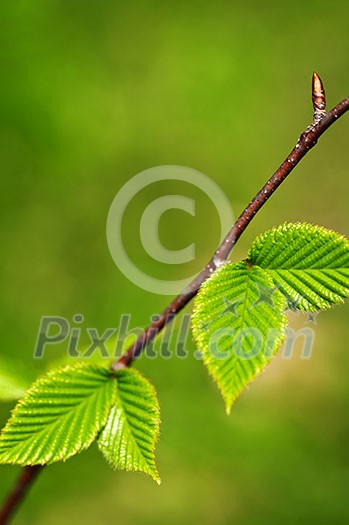
[[98,446],[117,469],[141,471],[160,483],[155,465],[160,410],[154,387],[139,372],[117,372],[117,398]]

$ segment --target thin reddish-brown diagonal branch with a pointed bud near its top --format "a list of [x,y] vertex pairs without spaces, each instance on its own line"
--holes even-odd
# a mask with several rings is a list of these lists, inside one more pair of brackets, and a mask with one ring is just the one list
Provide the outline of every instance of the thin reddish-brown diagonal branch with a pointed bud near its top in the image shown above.
[[[199,275],[187,286],[187,288],[176,297],[164,312],[140,335],[137,341],[112,365],[114,370],[130,366],[133,360],[139,356],[142,350],[149,344],[157,334],[174,319],[174,317],[190,302],[197,294],[200,286],[208,277],[227,259],[236,242],[245,231],[258,210],[267,202],[269,197],[286,179],[300,160],[315,146],[321,135],[339,117],[349,110],[349,97],[337,104],[326,114],[325,91],[320,77],[314,73],[312,81],[312,100],[314,118],[312,124],[302,133],[296,146],[284,160],[277,171],[272,175],[263,188],[251,200],[241,213],[227,236],[214,253],[211,260],[199,273]],[[2,510],[0,511],[0,525],[6,525],[14,512],[24,499],[27,491],[43,467],[26,467],[18,479],[14,489],[8,496]]]

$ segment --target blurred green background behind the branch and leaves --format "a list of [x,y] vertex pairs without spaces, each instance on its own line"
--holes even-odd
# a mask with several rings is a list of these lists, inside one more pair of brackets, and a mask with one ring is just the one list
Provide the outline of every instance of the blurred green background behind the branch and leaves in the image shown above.
[[[33,360],[42,315],[82,313],[83,327],[102,333],[124,312],[144,326],[167,305],[168,297],[129,282],[109,254],[115,194],[146,168],[179,164],[211,177],[238,214],[309,124],[313,70],[330,106],[349,94],[348,10],[344,0],[1,2],[0,329],[8,368],[31,380],[64,358],[61,345]],[[347,116],[258,214],[234,258],[285,220],[348,235],[348,136]],[[187,190],[149,187],[125,216],[130,256],[151,275],[186,276],[145,254],[139,218],[154,196]],[[173,211],[160,224],[169,249],[196,242],[187,273],[218,241],[210,201],[192,195],[195,218]],[[322,313],[309,325],[311,359],[275,359],[229,418],[191,342],[188,359],[141,360],[160,398],[162,485],[111,471],[92,447],[47,469],[14,523],[347,523],[348,312]],[[11,407],[2,405],[1,423]],[[17,473],[0,468],[1,495]]]

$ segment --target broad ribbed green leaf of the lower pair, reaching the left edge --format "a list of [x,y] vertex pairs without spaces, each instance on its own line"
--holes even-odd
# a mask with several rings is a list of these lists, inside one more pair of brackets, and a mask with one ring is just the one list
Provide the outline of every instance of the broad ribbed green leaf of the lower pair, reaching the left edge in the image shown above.
[[49,372],[28,390],[0,435],[0,463],[47,464],[88,448],[115,401],[110,371],[75,365]]

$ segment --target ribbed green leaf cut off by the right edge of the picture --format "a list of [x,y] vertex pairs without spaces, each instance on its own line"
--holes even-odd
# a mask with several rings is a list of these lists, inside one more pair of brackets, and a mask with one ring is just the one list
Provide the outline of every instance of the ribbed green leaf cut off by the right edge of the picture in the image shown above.
[[270,273],[292,309],[325,309],[349,295],[349,241],[323,227],[273,228],[257,237],[248,261]]

